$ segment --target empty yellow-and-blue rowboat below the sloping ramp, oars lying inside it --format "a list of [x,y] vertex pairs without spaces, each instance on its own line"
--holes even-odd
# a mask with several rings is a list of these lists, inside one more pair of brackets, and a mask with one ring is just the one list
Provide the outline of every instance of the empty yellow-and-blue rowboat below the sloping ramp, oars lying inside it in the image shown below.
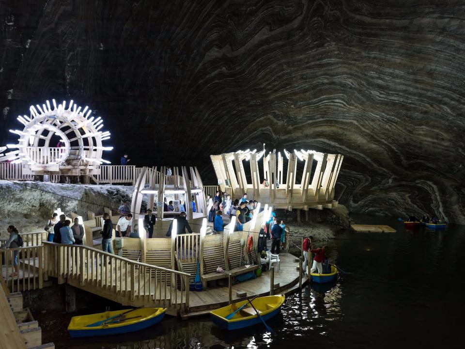
[[90,337],[142,330],[160,322],[166,308],[136,308],[72,317],[71,337]]

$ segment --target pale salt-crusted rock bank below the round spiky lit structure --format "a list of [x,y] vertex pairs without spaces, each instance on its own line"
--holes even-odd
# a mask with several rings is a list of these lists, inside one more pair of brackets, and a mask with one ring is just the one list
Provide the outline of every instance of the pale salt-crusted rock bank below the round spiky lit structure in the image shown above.
[[[132,186],[11,182],[0,180],[0,233],[6,237],[8,225],[20,232],[42,231],[58,207],[67,215],[75,212],[87,220],[87,210],[103,214],[104,207],[118,209],[131,201]],[[145,206],[144,202],[142,206]]]

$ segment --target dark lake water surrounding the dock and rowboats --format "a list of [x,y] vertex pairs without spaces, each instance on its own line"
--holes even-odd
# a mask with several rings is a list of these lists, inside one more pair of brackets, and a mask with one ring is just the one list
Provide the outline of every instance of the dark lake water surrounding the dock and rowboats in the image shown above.
[[[282,316],[225,333],[208,317],[167,317],[152,329],[71,340],[62,319],[57,348],[463,348],[465,226],[405,231],[397,220],[353,216],[357,223],[389,224],[397,233],[342,234],[325,242],[330,259],[346,272],[327,289],[290,296]],[[95,311],[105,309],[95,309]]]

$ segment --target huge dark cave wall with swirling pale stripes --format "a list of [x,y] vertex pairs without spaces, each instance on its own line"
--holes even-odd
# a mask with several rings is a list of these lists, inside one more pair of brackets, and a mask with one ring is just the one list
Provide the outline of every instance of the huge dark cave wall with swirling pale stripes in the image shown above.
[[341,153],[349,210],[465,224],[463,1],[2,0],[0,17],[1,143],[30,104],[73,98],[114,162],[212,183],[209,154]]

